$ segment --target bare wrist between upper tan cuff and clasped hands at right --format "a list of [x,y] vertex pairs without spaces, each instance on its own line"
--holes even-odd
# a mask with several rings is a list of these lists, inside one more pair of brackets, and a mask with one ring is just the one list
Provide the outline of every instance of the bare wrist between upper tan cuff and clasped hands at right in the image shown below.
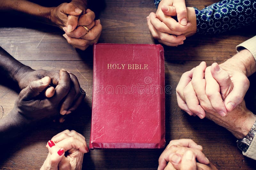
[[252,53],[247,49],[244,49],[220,64],[220,67],[224,70],[228,70],[230,67],[237,68],[248,77],[256,72],[256,61]]

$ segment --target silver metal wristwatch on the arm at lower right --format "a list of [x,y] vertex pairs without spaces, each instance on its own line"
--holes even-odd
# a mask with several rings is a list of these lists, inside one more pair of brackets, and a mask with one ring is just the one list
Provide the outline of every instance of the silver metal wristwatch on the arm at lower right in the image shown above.
[[253,124],[252,129],[249,131],[249,133],[246,135],[245,138],[236,141],[237,147],[241,151],[246,152],[249,146],[251,145],[255,135],[256,135],[256,122]]

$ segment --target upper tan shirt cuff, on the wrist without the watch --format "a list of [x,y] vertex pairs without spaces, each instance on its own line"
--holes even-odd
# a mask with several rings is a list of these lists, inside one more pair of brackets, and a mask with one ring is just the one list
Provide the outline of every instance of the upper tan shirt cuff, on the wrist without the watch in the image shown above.
[[[244,41],[243,43],[239,44],[238,46],[236,46],[237,52],[239,52],[243,49],[249,50],[252,53],[252,56],[254,57],[254,59],[256,60],[256,36],[254,36],[251,39],[248,39],[248,40]],[[255,150],[256,150],[256,146],[255,146]]]

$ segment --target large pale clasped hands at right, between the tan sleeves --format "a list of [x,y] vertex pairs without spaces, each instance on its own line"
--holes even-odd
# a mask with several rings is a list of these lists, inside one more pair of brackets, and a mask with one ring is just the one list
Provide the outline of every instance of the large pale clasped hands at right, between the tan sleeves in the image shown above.
[[217,63],[206,68],[206,63],[201,62],[181,76],[176,89],[178,105],[189,115],[200,118],[204,118],[205,111],[225,116],[243,101],[249,84],[247,77],[237,70],[225,71]]

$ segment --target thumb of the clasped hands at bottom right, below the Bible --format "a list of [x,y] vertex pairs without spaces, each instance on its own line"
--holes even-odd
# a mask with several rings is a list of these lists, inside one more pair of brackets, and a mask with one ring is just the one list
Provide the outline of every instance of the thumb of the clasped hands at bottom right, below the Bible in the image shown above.
[[195,154],[188,150],[183,155],[180,165],[181,170],[196,170],[196,157]]

